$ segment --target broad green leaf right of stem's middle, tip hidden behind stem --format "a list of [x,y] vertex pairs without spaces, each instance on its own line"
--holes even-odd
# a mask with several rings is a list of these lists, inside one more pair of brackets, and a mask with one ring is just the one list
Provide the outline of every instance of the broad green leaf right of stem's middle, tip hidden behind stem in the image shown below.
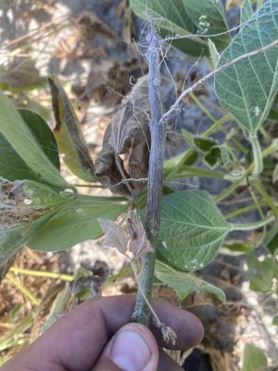
[[171,265],[195,271],[215,258],[231,227],[206,191],[163,197],[158,249]]

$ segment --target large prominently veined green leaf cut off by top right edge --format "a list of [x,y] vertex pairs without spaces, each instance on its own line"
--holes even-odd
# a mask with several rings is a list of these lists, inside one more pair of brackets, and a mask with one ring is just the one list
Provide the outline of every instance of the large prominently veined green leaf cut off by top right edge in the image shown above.
[[[278,0],[268,0],[224,50],[218,68],[278,38]],[[250,136],[262,125],[278,89],[278,47],[234,63],[215,74],[215,92]]]

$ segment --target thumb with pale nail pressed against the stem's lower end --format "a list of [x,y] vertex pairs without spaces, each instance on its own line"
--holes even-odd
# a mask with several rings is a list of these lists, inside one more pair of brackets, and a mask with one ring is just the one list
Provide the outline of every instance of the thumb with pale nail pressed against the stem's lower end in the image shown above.
[[92,371],[156,371],[158,345],[147,327],[123,326],[108,342]]

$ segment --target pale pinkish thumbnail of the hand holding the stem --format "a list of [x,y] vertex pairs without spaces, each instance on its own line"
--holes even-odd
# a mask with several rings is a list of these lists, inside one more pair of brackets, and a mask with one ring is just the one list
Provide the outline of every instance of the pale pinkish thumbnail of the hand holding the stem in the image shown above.
[[139,333],[124,329],[115,338],[111,359],[124,371],[141,371],[147,365],[152,353],[149,345]]

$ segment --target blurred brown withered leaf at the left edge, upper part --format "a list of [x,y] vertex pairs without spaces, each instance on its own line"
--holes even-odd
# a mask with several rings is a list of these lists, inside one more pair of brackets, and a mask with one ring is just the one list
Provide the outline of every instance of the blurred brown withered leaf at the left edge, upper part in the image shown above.
[[18,65],[1,74],[0,84],[7,84],[6,88],[22,89],[35,84],[39,77],[40,72],[35,68],[35,63],[30,59],[24,59]]

